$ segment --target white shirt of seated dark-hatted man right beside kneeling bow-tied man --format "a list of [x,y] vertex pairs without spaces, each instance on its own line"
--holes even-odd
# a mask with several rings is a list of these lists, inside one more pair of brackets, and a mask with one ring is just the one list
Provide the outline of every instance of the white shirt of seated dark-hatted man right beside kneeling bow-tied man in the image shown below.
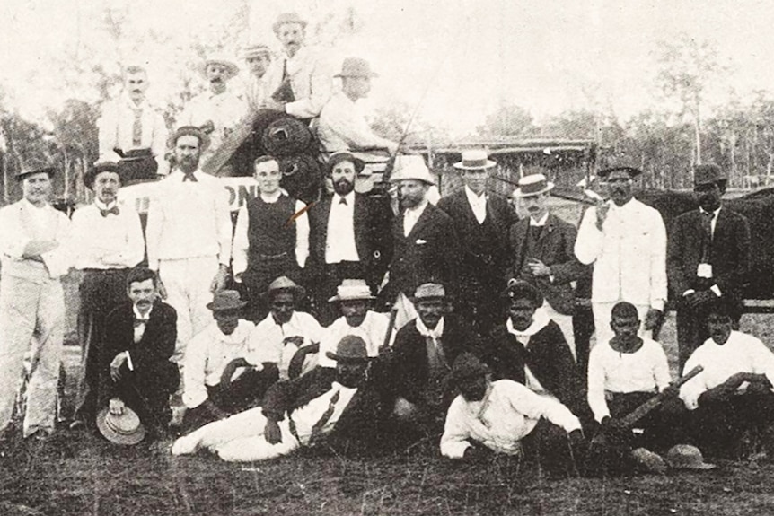
[[255,326],[240,319],[231,335],[225,335],[217,322],[212,321],[207,328],[193,337],[186,348],[185,367],[183,368],[185,392],[183,403],[186,407],[198,407],[207,400],[207,386],[215,387],[225,366],[236,358],[245,358],[248,340]]

